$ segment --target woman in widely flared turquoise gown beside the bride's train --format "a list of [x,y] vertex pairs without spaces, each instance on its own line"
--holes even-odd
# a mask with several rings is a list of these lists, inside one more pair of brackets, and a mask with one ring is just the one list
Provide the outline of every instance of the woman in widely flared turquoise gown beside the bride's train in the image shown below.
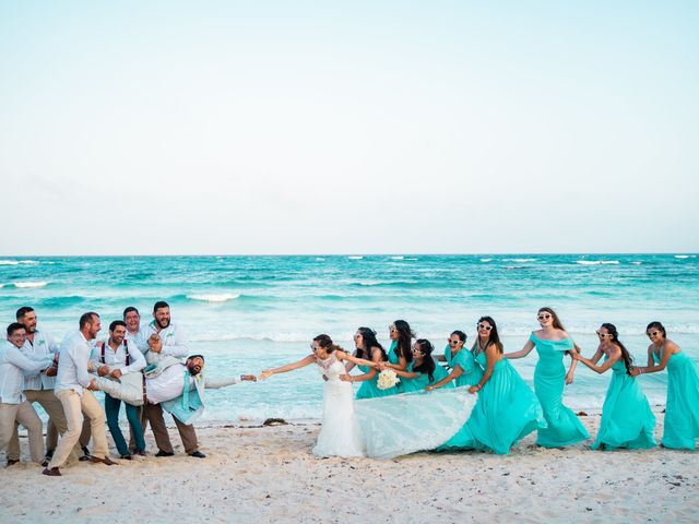
[[475,361],[485,368],[479,381],[469,388],[478,393],[469,421],[439,451],[474,449],[507,455],[522,438],[546,426],[534,392],[502,356],[502,343],[495,320],[478,320],[478,338],[473,345]]

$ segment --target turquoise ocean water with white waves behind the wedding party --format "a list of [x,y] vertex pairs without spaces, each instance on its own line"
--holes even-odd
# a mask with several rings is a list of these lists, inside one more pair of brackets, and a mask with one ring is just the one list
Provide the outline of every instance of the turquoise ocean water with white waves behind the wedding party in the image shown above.
[[[556,309],[590,356],[595,329],[617,325],[644,365],[644,327],[662,321],[668,336],[699,359],[699,258],[696,254],[342,255],[342,257],[57,257],[0,260],[0,319],[32,306],[57,340],[87,310],[104,334],[127,306],[143,320],[156,300],[170,303],[206,372],[259,373],[308,355],[310,340],[330,334],[352,348],[368,325],[388,342],[388,325],[407,320],[441,349],[451,331],[473,341],[478,317],[495,318],[506,352],[537,329],[536,311]],[[535,353],[514,361],[532,383]],[[574,408],[601,408],[609,377],[580,366],[567,389]],[[665,374],[642,378],[652,404],[665,401]],[[210,421],[320,417],[322,380],[316,369],[240,384],[210,395]]]

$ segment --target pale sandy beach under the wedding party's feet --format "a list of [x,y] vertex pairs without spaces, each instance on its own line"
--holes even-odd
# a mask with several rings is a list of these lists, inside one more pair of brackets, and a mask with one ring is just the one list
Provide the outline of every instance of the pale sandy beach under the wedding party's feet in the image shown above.
[[[656,437],[662,413],[656,413]],[[582,417],[591,434],[600,416]],[[516,453],[316,458],[318,425],[198,428],[206,460],[2,469],[0,522],[696,522],[699,454],[534,445]],[[173,430],[174,433],[176,431]],[[177,437],[173,442],[178,442]],[[25,451],[23,439],[23,452]],[[178,442],[179,443],[179,442]],[[150,449],[153,442],[149,439]],[[23,461],[26,456],[23,455]]]

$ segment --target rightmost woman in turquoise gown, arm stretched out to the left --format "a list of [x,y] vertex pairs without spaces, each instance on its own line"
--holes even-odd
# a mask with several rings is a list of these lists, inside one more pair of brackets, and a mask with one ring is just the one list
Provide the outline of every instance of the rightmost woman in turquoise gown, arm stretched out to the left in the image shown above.
[[674,450],[695,450],[699,439],[699,368],[677,344],[667,338],[660,322],[645,327],[651,341],[648,366],[631,370],[633,377],[667,368],[667,404],[661,445]]

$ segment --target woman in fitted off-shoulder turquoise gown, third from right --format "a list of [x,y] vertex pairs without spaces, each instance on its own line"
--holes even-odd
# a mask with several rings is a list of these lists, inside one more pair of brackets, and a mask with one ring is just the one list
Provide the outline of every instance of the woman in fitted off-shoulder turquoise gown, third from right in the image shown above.
[[506,358],[522,358],[536,348],[538,362],[534,371],[534,391],[544,410],[546,428],[538,430],[536,443],[543,448],[560,448],[589,439],[588,430],[582,426],[574,413],[562,403],[564,385],[572,383],[577,360],[572,362],[568,373],[564,366],[564,354],[579,352],[566,333],[556,312],[550,308],[542,308],[536,317],[542,329],[532,332],[524,347],[516,353],[505,355]]

